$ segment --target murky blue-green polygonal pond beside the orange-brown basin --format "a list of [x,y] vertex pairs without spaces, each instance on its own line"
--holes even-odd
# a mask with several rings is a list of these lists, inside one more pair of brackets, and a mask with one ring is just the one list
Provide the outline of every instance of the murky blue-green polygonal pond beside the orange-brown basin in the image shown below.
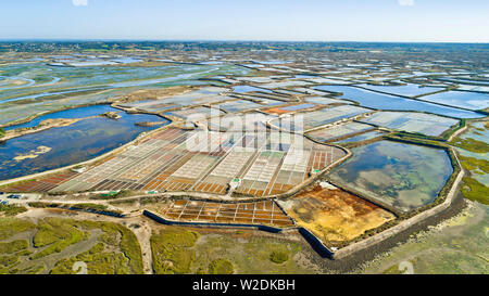
[[432,203],[453,172],[448,153],[439,149],[379,141],[351,151],[328,177],[404,213]]

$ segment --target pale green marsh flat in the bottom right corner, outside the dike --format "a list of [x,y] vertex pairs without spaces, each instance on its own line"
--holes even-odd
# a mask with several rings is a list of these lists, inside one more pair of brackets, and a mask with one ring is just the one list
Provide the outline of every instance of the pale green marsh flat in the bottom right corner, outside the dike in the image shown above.
[[488,214],[487,206],[473,203],[461,215],[413,234],[361,272],[404,273],[409,262],[416,274],[487,274]]

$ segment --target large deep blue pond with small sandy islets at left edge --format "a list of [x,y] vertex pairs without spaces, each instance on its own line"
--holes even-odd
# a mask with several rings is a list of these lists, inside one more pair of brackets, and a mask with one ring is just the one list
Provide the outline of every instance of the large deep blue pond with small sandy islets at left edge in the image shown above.
[[[26,134],[0,144],[0,180],[55,169],[102,155],[134,140],[138,134],[156,127],[139,127],[136,123],[167,120],[155,115],[120,113],[118,120],[98,117],[80,120],[67,127],[52,128]],[[51,151],[36,158],[15,160],[32,154],[39,146]]]

